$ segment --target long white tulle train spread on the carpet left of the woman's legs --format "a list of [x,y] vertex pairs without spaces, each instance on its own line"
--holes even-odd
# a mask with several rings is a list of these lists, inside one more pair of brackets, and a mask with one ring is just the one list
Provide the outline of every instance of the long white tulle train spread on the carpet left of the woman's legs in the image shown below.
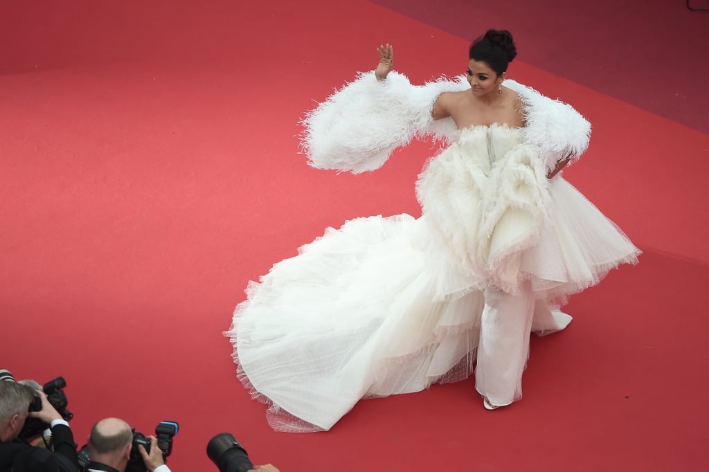
[[428,256],[413,243],[420,225],[351,220],[247,288],[228,335],[274,429],[330,429],[361,398],[469,375],[483,298],[433,300]]

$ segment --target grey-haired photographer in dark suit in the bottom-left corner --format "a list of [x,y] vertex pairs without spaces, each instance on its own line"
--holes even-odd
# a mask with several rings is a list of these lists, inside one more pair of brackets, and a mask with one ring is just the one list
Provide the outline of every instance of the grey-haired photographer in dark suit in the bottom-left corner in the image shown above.
[[[38,411],[29,412],[37,395],[41,400]],[[35,417],[50,425],[54,452],[33,447],[18,439],[28,417]],[[76,444],[72,430],[62,416],[38,390],[20,385],[13,380],[0,381],[0,470],[1,471],[77,471]]]

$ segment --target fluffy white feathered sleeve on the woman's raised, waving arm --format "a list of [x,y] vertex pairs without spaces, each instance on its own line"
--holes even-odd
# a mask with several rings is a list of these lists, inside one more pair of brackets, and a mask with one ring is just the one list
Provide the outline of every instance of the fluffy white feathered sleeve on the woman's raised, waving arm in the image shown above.
[[414,137],[447,140],[455,124],[450,118],[434,122],[433,103],[445,91],[467,88],[460,78],[413,86],[396,72],[381,81],[374,72],[361,73],[306,114],[301,149],[318,169],[354,174],[378,169]]

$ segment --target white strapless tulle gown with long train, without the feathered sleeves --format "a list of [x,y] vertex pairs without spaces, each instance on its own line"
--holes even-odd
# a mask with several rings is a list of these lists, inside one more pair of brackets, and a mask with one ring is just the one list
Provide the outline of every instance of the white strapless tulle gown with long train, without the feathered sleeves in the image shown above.
[[[420,218],[328,228],[250,283],[225,334],[274,429],[327,430],[362,398],[467,378],[481,331],[489,345],[506,336],[481,327],[486,297],[524,289],[537,300],[526,335],[485,351],[486,371],[518,366],[505,381],[517,399],[530,330],[563,329],[566,296],[637,262],[639,250],[579,191],[547,181],[524,131],[458,131],[419,176]],[[492,382],[482,370],[476,380],[481,393]]]

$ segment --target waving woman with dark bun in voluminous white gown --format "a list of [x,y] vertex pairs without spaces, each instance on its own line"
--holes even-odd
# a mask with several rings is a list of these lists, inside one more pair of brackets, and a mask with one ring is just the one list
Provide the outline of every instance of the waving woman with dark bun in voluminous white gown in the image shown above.
[[[475,371],[485,408],[521,398],[530,332],[640,251],[557,173],[588,146],[570,106],[506,80],[507,31],[471,45],[467,80],[374,73],[303,120],[320,169],[381,167],[413,137],[447,146],[416,184],[423,215],[350,220],[276,264],[235,310],[238,376],[285,431],[327,430],[361,398]],[[473,369],[476,363],[475,369]]]

